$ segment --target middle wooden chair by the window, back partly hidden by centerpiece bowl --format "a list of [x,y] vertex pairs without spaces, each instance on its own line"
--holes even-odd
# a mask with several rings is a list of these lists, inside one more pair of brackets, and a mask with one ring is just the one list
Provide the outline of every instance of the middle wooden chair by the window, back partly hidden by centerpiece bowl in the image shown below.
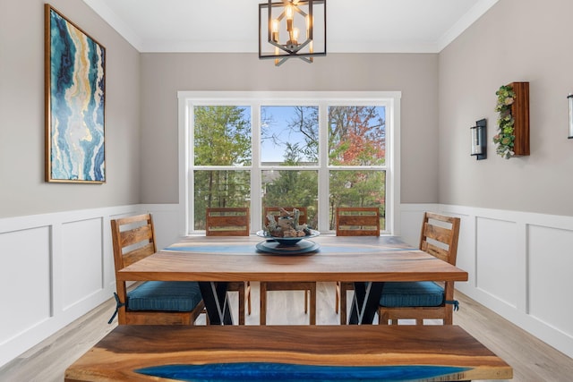
[[[307,222],[307,209],[305,207],[284,207],[287,211],[296,208],[300,211],[298,223],[301,225]],[[263,224],[267,223],[267,216],[279,216],[280,207],[265,207],[263,209]],[[267,324],[267,292],[269,291],[304,291],[304,313],[309,312],[309,294],[310,294],[310,317],[311,325],[316,325],[316,283],[313,281],[301,282],[261,282],[261,325]]]

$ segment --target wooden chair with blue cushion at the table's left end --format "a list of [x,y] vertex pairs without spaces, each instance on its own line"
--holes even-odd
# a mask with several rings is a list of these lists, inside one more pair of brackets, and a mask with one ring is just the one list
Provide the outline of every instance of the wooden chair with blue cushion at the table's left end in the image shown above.
[[[157,251],[150,214],[111,220],[115,275]],[[124,281],[116,281],[119,325],[192,325],[205,305],[199,284],[184,281],[146,281],[127,292]]]

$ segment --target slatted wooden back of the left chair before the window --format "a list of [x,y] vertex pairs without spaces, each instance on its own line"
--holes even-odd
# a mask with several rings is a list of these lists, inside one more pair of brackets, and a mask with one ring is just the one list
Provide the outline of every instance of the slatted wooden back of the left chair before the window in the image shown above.
[[207,236],[248,236],[249,208],[207,208]]

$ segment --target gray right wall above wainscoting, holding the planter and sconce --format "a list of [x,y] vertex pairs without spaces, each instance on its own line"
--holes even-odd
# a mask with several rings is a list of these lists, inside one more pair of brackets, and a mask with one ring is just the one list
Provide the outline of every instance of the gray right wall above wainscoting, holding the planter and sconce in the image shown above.
[[[440,203],[572,215],[570,0],[502,0],[440,53]],[[498,157],[495,91],[530,82],[531,156]],[[469,156],[469,127],[488,121],[488,158]]]

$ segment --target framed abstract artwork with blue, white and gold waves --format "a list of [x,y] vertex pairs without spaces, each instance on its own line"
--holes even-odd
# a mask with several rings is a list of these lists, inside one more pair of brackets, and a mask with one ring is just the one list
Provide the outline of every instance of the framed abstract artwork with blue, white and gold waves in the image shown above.
[[45,4],[46,182],[106,182],[106,48]]

